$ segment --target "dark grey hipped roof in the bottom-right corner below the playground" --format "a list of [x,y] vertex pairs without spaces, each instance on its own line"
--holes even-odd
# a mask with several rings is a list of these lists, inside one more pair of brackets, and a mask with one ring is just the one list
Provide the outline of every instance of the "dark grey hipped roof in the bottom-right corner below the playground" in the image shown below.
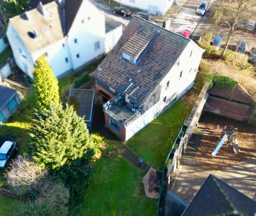
[[234,212],[254,216],[256,202],[210,174],[182,215],[231,215]]

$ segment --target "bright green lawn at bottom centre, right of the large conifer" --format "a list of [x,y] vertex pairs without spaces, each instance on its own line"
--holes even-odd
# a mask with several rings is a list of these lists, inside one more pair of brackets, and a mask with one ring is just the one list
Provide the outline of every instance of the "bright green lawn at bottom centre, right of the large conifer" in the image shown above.
[[101,158],[94,163],[80,216],[154,216],[157,200],[146,197],[142,173],[125,159]]

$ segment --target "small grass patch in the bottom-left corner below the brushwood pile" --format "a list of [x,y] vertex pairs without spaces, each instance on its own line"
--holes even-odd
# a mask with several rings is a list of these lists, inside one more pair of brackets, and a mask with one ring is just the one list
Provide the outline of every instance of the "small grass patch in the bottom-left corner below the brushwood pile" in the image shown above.
[[20,201],[0,196],[0,216],[14,216],[19,206],[21,206]]

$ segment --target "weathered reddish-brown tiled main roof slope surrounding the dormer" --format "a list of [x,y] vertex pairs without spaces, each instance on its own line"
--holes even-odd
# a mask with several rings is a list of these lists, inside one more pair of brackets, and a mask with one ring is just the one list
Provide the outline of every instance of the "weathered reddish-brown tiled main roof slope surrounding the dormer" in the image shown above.
[[[129,48],[129,46],[125,46],[127,42],[133,41],[131,43],[133,47],[138,45],[134,42],[134,35],[141,35],[145,39],[143,42],[139,41],[142,43],[142,45],[138,45],[141,48],[156,35],[159,29],[161,29],[160,33],[154,38],[152,44],[149,43],[149,48],[136,65],[121,58],[120,50]],[[138,37],[136,38],[138,39]],[[141,106],[174,66],[189,41],[183,36],[133,16],[115,48],[107,55],[93,75],[121,94],[133,83],[126,90],[128,94],[132,93],[128,99]]]

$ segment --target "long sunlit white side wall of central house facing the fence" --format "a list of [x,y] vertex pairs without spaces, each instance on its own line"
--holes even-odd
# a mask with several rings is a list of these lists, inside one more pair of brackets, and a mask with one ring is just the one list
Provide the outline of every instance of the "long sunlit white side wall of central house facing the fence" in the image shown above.
[[[192,56],[189,57],[191,50],[193,50]],[[163,109],[170,104],[170,99],[172,95],[177,92],[178,99],[193,86],[202,54],[202,49],[198,49],[197,45],[189,42],[188,46],[180,55],[179,66],[177,64],[173,66],[170,72],[167,73],[167,75],[160,82],[160,100],[155,105],[153,105],[147,112],[145,112],[140,118],[136,119],[134,122],[130,123],[130,125],[126,127],[125,141],[130,139],[134,134],[140,131],[152,120],[154,120],[163,111]],[[181,71],[183,71],[183,73],[180,78]],[[170,81],[169,87],[166,89],[166,83],[168,81]],[[165,96],[167,103],[163,102],[163,98]]]

